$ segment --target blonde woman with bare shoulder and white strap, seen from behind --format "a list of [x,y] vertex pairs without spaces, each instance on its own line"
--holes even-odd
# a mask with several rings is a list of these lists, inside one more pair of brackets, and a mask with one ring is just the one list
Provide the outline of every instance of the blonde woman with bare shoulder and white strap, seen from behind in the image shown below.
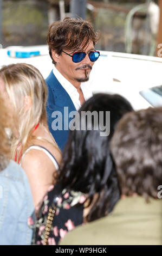
[[61,160],[47,126],[46,83],[34,66],[20,63],[0,70],[0,84],[12,120],[11,157],[28,176],[37,210]]

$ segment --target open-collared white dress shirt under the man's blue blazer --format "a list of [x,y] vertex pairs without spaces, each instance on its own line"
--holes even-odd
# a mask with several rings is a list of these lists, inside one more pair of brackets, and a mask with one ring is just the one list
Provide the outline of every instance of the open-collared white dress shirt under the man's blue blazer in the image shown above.
[[[76,110],[78,110],[81,107],[81,104],[80,104],[79,93],[77,92],[77,89],[63,75],[61,75],[61,73],[59,72],[59,70],[56,69],[55,66],[53,68],[53,73],[54,73],[55,77],[57,78],[57,80],[61,83],[62,87],[69,94]],[[90,89],[90,87],[91,86],[89,84],[89,81],[81,83],[80,88],[85,97],[85,101],[93,96],[92,90]]]

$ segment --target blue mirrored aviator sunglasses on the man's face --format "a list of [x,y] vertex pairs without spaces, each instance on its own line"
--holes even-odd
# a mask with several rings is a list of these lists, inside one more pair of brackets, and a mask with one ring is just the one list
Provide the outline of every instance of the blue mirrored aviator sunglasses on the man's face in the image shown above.
[[[64,51],[62,51],[62,52],[64,52]],[[97,52],[97,51],[87,52],[87,53],[86,52],[74,52],[72,55],[70,55],[67,52],[64,52],[64,53],[66,53],[67,55],[72,57],[72,60],[75,63],[81,62],[86,57],[86,54],[88,54],[91,62],[95,62],[100,56],[100,52]]]

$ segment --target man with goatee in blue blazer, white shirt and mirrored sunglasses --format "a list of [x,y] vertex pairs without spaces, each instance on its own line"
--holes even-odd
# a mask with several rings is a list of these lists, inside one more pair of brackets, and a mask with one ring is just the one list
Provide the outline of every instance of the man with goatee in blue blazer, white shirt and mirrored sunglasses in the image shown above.
[[80,18],[67,17],[49,27],[47,42],[54,68],[46,79],[47,117],[49,130],[61,150],[73,119],[69,113],[77,111],[92,96],[87,81],[100,56],[95,50],[99,38],[92,25]]

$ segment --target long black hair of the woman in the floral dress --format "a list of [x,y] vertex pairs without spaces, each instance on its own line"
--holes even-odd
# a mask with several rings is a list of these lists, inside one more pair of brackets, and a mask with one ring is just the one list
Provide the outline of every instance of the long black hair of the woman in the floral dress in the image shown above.
[[[89,126],[90,120],[83,118],[82,113],[96,111],[98,117],[99,113],[103,113],[103,123],[99,118],[99,127],[95,130],[94,118],[92,118],[92,130],[86,128],[70,131],[57,182],[62,187],[86,193],[90,200],[98,194],[98,200],[87,217],[88,221],[105,216],[113,209],[120,197],[109,142],[118,120],[132,110],[129,102],[120,95],[96,94],[80,108],[80,120],[82,124]],[[110,111],[108,123],[107,111]],[[108,136],[101,136],[101,123],[104,126],[110,125]]]

